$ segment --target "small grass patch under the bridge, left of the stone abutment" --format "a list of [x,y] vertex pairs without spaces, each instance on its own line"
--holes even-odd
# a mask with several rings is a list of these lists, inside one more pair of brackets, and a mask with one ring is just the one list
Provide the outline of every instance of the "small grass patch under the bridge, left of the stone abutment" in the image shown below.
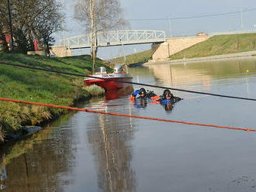
[[[130,65],[133,63],[145,63],[147,60],[150,60],[152,58],[152,51],[146,50],[140,53],[134,53],[131,55],[126,56],[126,64]],[[113,60],[111,60],[112,63],[124,63],[123,57],[117,57]]]

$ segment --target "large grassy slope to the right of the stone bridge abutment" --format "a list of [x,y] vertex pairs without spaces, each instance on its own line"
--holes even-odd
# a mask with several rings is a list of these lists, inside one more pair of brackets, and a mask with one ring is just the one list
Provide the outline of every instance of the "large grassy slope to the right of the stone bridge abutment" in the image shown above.
[[209,57],[256,50],[256,33],[213,36],[208,40],[175,53],[171,60]]

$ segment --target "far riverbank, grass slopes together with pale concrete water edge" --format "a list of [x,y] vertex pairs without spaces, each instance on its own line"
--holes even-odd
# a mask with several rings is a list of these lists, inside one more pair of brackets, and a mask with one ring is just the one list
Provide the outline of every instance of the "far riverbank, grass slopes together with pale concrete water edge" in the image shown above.
[[[256,51],[256,33],[243,33],[232,35],[212,36],[206,41],[197,43],[194,46],[171,55],[164,60],[154,61],[155,63],[184,63],[204,60],[226,60],[237,57],[251,57]],[[142,63],[150,64],[152,50],[126,56],[130,67]],[[128,58],[128,59],[127,59]],[[113,59],[114,62],[122,62],[123,57]],[[153,63],[154,64],[154,63]]]

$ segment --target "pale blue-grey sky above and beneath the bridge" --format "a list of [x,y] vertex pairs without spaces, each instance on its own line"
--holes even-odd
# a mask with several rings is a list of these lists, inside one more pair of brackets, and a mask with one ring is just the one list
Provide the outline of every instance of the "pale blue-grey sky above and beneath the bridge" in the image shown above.
[[[64,0],[66,36],[85,33],[74,20],[75,0]],[[127,29],[164,30],[166,35],[195,36],[196,33],[229,31],[256,31],[256,0],[119,0],[124,19],[130,22]],[[57,39],[63,33],[57,34]],[[125,54],[150,50],[150,44],[125,46]],[[74,54],[88,54],[89,49]],[[98,56],[109,60],[122,57],[120,46],[99,48]]]

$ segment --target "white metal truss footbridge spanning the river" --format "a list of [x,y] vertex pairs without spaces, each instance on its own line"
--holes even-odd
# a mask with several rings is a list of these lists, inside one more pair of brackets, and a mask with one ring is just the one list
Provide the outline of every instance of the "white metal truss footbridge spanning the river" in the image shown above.
[[[142,43],[163,43],[165,32],[157,30],[122,30],[98,33],[97,46],[121,46]],[[69,50],[90,48],[90,34],[72,36],[61,40],[61,45]]]

